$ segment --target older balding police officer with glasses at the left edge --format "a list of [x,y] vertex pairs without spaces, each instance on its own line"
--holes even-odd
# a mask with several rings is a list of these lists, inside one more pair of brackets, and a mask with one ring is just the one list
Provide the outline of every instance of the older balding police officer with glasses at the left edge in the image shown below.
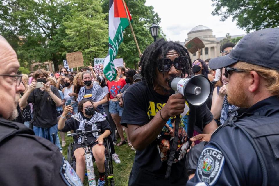
[[82,185],[58,147],[37,137],[17,117],[18,94],[24,91],[19,62],[0,36],[0,183],[1,185]]

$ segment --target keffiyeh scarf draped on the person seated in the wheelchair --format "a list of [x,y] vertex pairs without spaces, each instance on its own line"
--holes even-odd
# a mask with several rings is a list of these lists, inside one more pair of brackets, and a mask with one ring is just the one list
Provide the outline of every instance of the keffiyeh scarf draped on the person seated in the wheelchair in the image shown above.
[[[92,126],[92,130],[97,130],[98,128],[97,128],[96,123],[101,122],[101,121],[105,121],[105,117],[98,112],[95,112],[95,114],[92,116],[92,118],[89,121],[86,120],[86,119],[83,119],[80,112],[78,112],[77,114],[72,115],[72,117],[74,119],[76,119],[77,121],[79,121],[78,129],[81,129],[81,130],[84,130],[85,126]],[[99,137],[98,132],[94,132],[94,133],[92,133],[92,135],[96,138]],[[83,136],[80,136],[78,138],[78,144],[82,144],[83,140],[84,140]]]

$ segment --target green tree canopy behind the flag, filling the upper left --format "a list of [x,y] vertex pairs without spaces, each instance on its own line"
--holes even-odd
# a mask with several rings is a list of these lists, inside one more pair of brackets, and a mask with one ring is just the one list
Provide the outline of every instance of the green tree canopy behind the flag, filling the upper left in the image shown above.
[[[22,67],[53,61],[55,70],[66,53],[82,51],[85,65],[108,53],[108,0],[2,0],[0,34],[17,52]],[[160,23],[145,0],[126,0],[140,49],[153,42],[149,26]],[[159,37],[164,37],[162,31]],[[117,58],[135,68],[140,60],[130,28]]]

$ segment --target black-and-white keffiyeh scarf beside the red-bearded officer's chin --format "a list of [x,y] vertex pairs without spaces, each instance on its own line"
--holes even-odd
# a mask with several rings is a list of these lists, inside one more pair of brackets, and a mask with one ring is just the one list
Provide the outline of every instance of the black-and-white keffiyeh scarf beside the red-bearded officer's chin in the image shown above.
[[223,125],[228,118],[237,115],[238,109],[239,107],[228,103],[228,96],[226,95],[221,110],[221,116],[220,116],[221,125]]

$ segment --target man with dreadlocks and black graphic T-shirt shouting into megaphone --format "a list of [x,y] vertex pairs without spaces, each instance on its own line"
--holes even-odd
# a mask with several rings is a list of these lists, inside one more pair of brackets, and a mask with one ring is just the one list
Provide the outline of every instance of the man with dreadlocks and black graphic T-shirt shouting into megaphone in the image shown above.
[[181,117],[177,149],[173,161],[170,160],[169,179],[165,179],[174,139],[173,118],[188,105],[181,94],[174,94],[168,81],[189,74],[191,66],[187,49],[175,42],[160,39],[144,51],[140,61],[143,81],[126,91],[121,120],[122,125],[128,126],[130,140],[137,149],[129,185],[185,184],[185,154],[190,146],[188,124],[195,125],[201,133],[212,133],[217,128],[205,104],[198,108],[189,105],[189,112]]

